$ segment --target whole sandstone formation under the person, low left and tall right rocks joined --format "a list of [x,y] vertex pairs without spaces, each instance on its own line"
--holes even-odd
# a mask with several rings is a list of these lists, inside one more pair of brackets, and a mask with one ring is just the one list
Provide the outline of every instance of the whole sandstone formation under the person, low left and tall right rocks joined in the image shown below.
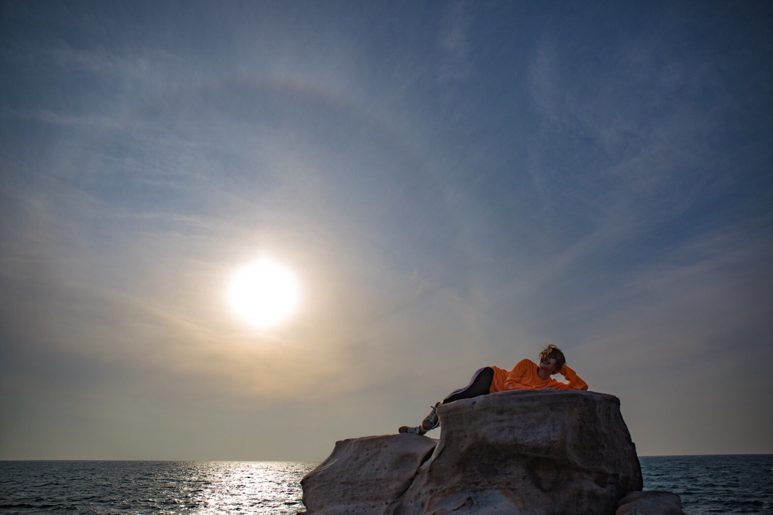
[[612,395],[508,391],[443,404],[438,414],[439,441],[386,435],[337,442],[301,481],[308,513],[606,515],[642,489]]

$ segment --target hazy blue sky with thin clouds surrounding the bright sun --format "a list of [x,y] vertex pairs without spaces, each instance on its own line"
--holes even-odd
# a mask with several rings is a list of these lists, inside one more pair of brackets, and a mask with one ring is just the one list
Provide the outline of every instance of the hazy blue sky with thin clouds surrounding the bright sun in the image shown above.
[[[547,343],[639,455],[773,452],[767,2],[0,27],[0,459],[318,461]],[[268,327],[227,293],[261,256]]]

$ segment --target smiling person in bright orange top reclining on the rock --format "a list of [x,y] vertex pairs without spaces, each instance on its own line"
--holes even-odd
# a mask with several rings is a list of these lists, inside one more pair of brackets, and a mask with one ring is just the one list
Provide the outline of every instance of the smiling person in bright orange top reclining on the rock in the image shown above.
[[[560,373],[569,381],[560,383],[550,377]],[[400,433],[412,433],[414,435],[424,435],[427,431],[440,427],[438,420],[438,406],[458,401],[459,399],[469,399],[478,397],[478,395],[493,394],[498,391],[507,390],[587,390],[587,383],[577,376],[574,370],[567,366],[567,360],[564,353],[554,345],[549,345],[540,353],[540,364],[532,360],[520,360],[518,364],[509,372],[499,367],[483,367],[472,376],[470,384],[464,388],[452,391],[442,402],[438,402],[432,407],[421,425],[404,425],[397,431]]]

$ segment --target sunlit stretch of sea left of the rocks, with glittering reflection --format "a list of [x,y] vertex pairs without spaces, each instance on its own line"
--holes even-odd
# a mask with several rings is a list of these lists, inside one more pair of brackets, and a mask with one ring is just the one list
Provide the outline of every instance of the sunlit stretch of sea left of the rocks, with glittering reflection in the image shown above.
[[2,462],[3,513],[298,513],[312,462]]

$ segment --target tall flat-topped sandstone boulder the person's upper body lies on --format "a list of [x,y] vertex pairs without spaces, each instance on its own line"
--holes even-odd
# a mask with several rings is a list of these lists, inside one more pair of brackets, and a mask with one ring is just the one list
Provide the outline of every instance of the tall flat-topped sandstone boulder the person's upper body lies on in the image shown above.
[[393,513],[614,513],[642,489],[620,401],[508,391],[441,405],[442,435]]

